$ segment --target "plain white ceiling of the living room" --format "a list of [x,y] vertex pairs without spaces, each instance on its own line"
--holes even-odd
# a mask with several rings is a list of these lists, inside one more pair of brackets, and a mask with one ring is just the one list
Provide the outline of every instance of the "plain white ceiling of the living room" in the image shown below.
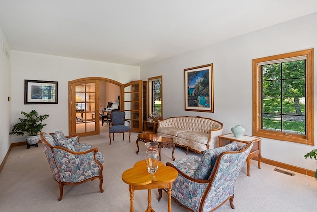
[[142,66],[317,12],[317,0],[0,0],[12,50]]

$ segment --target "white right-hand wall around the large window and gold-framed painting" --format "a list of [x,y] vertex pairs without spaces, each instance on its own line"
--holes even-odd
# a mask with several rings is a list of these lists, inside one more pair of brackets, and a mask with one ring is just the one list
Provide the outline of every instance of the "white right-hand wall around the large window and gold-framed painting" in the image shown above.
[[[315,48],[317,13],[245,34],[141,67],[141,79],[163,75],[163,114],[203,116],[223,122],[223,133],[240,124],[252,135],[252,64],[254,58]],[[315,62],[316,62],[315,53]],[[184,110],[184,69],[213,63],[214,113]],[[317,64],[317,63],[315,63]],[[314,81],[317,81],[315,67]],[[317,93],[317,83],[314,85]],[[314,99],[315,108],[317,97]],[[317,111],[315,110],[315,129]],[[315,133],[315,138],[317,133]],[[313,160],[304,155],[317,148],[303,144],[263,138],[262,156],[267,159],[316,170]]]

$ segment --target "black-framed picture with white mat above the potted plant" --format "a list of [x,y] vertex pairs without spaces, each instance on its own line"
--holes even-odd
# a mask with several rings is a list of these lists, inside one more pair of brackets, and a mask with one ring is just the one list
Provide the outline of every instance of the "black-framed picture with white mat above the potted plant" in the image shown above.
[[24,80],[24,104],[58,104],[58,82]]

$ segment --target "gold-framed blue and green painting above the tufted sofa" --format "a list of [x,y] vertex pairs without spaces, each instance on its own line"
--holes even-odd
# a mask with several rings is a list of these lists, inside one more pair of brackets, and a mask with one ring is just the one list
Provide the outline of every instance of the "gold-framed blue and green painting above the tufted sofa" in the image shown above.
[[184,69],[185,111],[214,112],[213,64]]

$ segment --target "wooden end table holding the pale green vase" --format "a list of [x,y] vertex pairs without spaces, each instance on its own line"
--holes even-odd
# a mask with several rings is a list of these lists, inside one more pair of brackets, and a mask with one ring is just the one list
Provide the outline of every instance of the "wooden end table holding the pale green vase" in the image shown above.
[[246,135],[243,135],[242,137],[237,138],[237,137],[234,137],[233,133],[228,133],[228,134],[219,136],[219,147],[224,145],[222,140],[228,140],[230,142],[236,141],[236,142],[245,143],[245,144],[248,144],[249,142],[253,142],[252,149],[250,151],[249,156],[247,157],[247,175],[250,176],[250,164],[251,164],[250,159],[254,158],[255,156],[259,157],[258,168],[260,169],[260,163],[261,163],[261,158],[262,158],[262,156],[261,156],[261,138],[254,137],[254,136],[246,136]]

